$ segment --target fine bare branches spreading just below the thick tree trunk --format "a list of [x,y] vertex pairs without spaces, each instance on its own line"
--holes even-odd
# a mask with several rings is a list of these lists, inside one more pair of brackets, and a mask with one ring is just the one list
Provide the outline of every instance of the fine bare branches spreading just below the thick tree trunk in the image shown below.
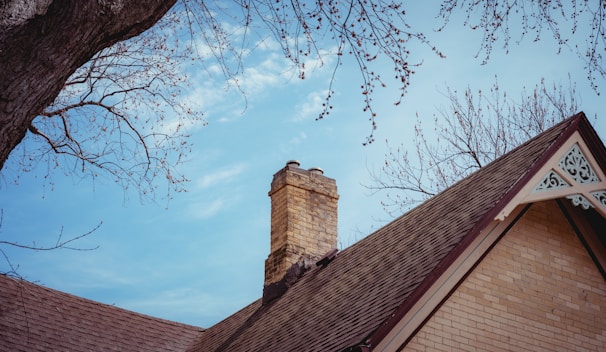
[[169,192],[182,189],[186,179],[175,167],[189,151],[184,124],[204,120],[182,100],[189,82],[181,66],[191,49],[171,40],[174,25],[159,27],[99,51],[68,78],[29,125],[22,157],[12,160],[19,170],[43,162],[47,177],[61,166],[145,196],[153,195],[160,175]]

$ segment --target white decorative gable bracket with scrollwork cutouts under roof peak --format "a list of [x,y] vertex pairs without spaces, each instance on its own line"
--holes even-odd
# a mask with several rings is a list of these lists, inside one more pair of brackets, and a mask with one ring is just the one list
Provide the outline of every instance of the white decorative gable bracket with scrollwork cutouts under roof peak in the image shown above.
[[575,132],[496,217],[504,220],[519,204],[567,198],[606,217],[606,175]]

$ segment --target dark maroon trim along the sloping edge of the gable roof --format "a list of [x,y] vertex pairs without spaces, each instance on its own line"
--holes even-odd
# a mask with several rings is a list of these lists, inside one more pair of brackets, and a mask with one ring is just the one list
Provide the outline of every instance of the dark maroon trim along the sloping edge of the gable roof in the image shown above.
[[[488,210],[483,217],[476,223],[476,225],[469,231],[467,235],[461,240],[461,242],[446,255],[440,264],[427,276],[423,282],[406,298],[406,300],[400,305],[374,332],[365,338],[363,341],[364,345],[371,346],[371,349],[377,346],[389,332],[398,324],[400,320],[412,309],[412,307],[419,301],[429,288],[431,288],[439,277],[450,267],[450,265],[465,251],[465,249],[471,245],[475,238],[481,233],[482,229],[488,226],[495,217],[499,214],[503,207],[505,207],[511,199],[524,187],[524,185],[532,178],[536,173],[552,156],[555,152],[564,144],[564,142],[577,130],[579,125],[582,126],[583,137],[595,136],[599,141],[599,137],[589,124],[587,117],[583,112],[579,112],[572,117],[564,120],[561,123],[568,123],[569,125],[564,128],[559,136],[551,142],[551,145],[543,152],[543,154],[532,164],[530,169],[526,171],[495,203],[490,210]],[[589,132],[589,133],[587,133]],[[536,137],[535,137],[536,138]],[[591,138],[591,137],[590,137]],[[534,139],[534,138],[533,138]],[[592,138],[593,139],[593,138]],[[592,141],[593,146],[595,141]],[[517,148],[516,148],[517,149]],[[598,148],[599,149],[599,148]]]

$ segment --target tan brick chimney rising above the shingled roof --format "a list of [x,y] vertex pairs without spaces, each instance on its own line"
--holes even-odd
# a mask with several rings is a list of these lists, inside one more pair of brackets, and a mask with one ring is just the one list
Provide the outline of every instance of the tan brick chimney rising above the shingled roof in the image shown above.
[[298,161],[289,161],[271,182],[271,253],[265,261],[265,288],[284,281],[293,268],[306,270],[337,247],[337,184],[322,169],[299,166]]

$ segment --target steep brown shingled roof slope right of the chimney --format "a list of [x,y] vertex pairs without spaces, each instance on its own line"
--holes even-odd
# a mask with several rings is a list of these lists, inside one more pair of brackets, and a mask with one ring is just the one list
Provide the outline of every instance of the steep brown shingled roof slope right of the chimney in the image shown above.
[[256,301],[211,327],[189,351],[373,347],[575,131],[604,150],[579,113],[309,271],[270,304]]

